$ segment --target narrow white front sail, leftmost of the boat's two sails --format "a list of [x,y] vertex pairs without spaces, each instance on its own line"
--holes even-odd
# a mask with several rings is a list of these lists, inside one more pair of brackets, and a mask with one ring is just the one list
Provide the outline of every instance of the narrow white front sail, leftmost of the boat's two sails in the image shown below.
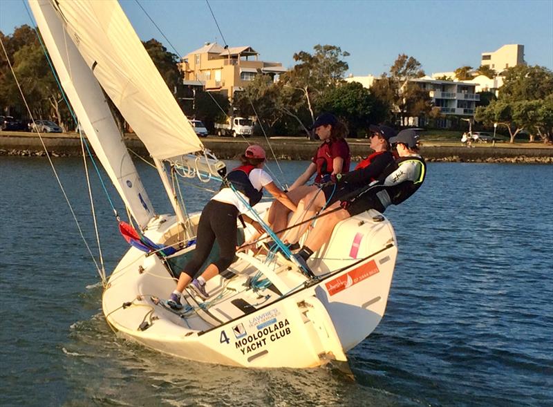
[[155,216],[153,207],[100,85],[64,32],[62,21],[50,1],[30,0],[29,4],[59,80],[79,117],[86,137],[126,207],[143,229]]

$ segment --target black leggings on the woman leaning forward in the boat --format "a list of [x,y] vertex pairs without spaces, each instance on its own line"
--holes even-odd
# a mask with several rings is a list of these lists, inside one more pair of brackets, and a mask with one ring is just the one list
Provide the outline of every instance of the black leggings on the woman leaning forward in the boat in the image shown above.
[[238,208],[232,204],[210,200],[205,205],[198,223],[198,236],[196,238],[196,250],[183,273],[194,278],[209,253],[212,251],[215,240],[221,250],[219,258],[214,261],[219,272],[224,272],[234,261],[236,255],[236,219]]

